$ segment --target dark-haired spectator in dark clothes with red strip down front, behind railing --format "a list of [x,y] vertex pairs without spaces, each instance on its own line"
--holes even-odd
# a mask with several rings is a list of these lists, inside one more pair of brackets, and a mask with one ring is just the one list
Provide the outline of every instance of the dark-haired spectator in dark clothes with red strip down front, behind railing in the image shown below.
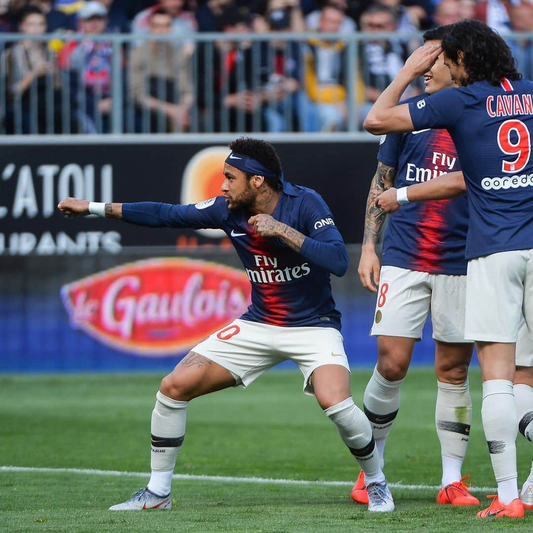
[[[224,33],[249,33],[247,10],[230,9],[220,19]],[[204,131],[261,131],[268,83],[266,44],[205,43],[198,50],[198,102]]]

